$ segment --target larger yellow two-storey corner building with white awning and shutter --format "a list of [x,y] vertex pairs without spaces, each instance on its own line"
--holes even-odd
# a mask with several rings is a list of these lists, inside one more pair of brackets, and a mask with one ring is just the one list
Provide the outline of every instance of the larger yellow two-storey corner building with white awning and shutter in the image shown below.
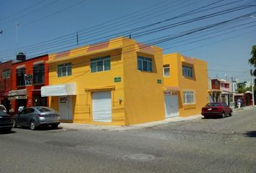
[[133,125],[165,118],[161,48],[117,37],[49,55],[41,88],[62,122]]

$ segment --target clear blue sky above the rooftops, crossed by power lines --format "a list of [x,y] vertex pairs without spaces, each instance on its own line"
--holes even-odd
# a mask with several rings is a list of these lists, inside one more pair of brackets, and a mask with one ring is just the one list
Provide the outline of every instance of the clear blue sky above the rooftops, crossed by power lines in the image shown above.
[[1,0],[1,30],[2,62],[130,35],[163,53],[207,61],[209,78],[243,82],[251,80],[256,1]]

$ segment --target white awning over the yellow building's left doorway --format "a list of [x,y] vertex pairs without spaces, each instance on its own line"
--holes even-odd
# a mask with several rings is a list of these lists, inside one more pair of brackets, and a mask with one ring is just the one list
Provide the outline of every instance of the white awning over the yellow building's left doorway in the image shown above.
[[76,95],[76,84],[58,84],[41,87],[41,97]]

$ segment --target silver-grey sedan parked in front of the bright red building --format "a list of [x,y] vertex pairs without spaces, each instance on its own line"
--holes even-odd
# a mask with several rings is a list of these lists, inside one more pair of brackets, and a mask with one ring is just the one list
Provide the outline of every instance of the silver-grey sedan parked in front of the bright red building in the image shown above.
[[26,107],[18,115],[14,115],[13,120],[14,128],[23,126],[31,130],[48,125],[58,128],[60,123],[59,113],[49,107]]

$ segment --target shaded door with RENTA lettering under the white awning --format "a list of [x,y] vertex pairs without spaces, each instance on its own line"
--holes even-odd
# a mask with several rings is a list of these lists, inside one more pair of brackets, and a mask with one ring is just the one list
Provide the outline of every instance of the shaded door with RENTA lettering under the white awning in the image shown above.
[[61,120],[72,120],[72,96],[59,97],[59,114]]

